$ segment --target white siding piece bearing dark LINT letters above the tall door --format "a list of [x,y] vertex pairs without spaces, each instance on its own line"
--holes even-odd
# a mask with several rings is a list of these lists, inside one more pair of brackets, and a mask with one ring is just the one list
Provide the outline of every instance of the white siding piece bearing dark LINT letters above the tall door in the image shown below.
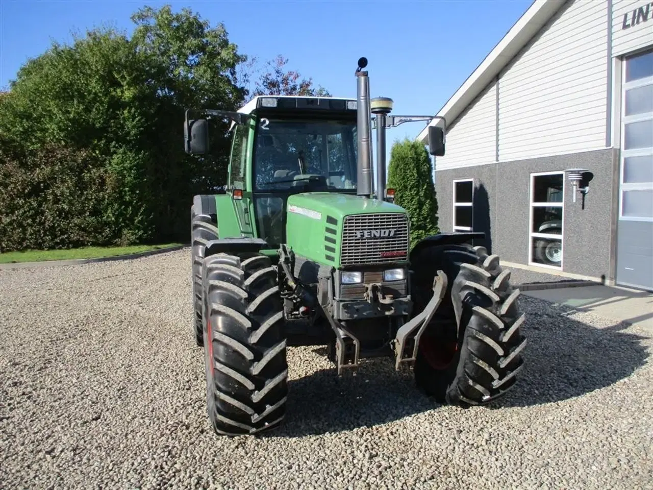
[[[633,22],[633,10],[635,10],[635,22]],[[637,10],[639,10],[639,16]],[[623,28],[624,15],[626,16],[626,29]],[[639,24],[636,23],[637,20],[639,20]],[[613,0],[612,25],[613,56],[653,45],[653,2],[650,0]]]

